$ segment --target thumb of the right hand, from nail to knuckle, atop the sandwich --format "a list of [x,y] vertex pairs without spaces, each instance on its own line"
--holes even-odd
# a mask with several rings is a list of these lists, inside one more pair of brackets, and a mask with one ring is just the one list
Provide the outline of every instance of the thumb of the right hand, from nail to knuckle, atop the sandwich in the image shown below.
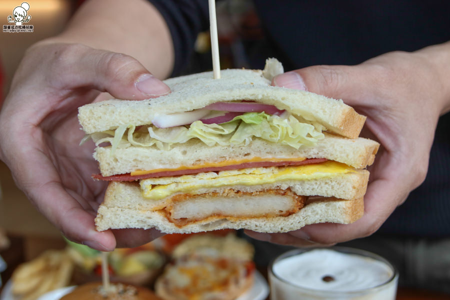
[[355,67],[346,65],[314,65],[279,74],[272,85],[307,90],[327,97],[345,98],[354,86]]

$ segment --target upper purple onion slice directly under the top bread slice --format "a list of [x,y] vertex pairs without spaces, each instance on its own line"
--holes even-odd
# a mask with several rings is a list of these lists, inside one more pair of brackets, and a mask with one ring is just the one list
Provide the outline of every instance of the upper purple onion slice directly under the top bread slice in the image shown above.
[[256,103],[256,102],[215,102],[204,107],[204,109],[220,111],[238,111],[238,112],[262,112],[267,114],[281,114],[283,109],[276,108],[275,105]]

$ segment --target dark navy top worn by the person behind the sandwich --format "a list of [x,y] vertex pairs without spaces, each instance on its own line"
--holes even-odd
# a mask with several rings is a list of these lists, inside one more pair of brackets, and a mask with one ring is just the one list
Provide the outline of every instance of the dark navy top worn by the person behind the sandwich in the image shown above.
[[[207,1],[150,1],[169,25],[176,75],[187,62],[197,33],[208,28]],[[414,51],[450,40],[450,1],[445,0],[257,0],[254,7],[265,32],[265,38],[253,42],[246,52],[254,68],[262,68],[269,56],[277,57],[285,70],[352,65],[388,51]],[[437,125],[425,181],[378,233],[450,236],[449,132],[447,113]]]

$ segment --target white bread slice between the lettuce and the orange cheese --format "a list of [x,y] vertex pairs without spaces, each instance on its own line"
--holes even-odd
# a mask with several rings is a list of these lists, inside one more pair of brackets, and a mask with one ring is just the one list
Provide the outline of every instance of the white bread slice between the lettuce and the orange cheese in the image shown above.
[[117,148],[111,154],[111,146],[97,147],[94,158],[99,162],[103,176],[129,173],[134,170],[177,168],[194,166],[208,162],[250,159],[252,157],[271,158],[327,158],[355,168],[365,168],[373,163],[379,144],[376,141],[358,137],[349,139],[334,134],[325,134],[316,145],[302,145],[295,149],[263,139],[254,139],[244,146],[205,146],[200,140],[191,139],[169,150],[154,147],[131,146]]

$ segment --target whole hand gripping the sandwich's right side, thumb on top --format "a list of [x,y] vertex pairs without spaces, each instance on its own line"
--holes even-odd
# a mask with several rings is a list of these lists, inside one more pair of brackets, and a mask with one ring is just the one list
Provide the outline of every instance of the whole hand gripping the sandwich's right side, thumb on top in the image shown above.
[[[435,49],[433,49],[434,51]],[[248,235],[296,246],[331,245],[375,232],[425,178],[437,119],[448,109],[448,87],[429,49],[390,52],[355,66],[311,66],[280,74],[272,84],[341,98],[367,116],[362,135],[380,142],[352,224],[321,223],[287,233]],[[447,106],[447,107],[446,107]]]

